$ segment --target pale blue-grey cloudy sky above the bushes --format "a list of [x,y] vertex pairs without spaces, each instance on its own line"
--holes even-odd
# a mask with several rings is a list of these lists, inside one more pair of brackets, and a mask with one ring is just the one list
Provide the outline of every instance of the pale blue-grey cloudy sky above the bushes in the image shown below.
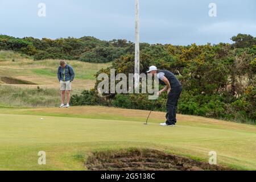
[[[39,3],[46,17],[39,17]],[[209,4],[217,17],[209,16]],[[255,0],[140,0],[141,42],[229,42],[238,33],[256,36]],[[0,0],[0,34],[15,37],[94,36],[134,42],[135,0]]]

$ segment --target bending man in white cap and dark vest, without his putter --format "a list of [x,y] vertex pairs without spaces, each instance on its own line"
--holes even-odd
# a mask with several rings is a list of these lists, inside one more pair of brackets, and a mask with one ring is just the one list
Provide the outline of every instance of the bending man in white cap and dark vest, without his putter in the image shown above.
[[167,114],[166,114],[166,123],[160,123],[161,126],[175,126],[176,119],[176,110],[177,110],[177,101],[179,100],[182,85],[180,81],[175,77],[174,73],[166,70],[157,69],[155,66],[150,67],[148,73],[155,75],[159,78],[159,83],[166,85],[162,90],[158,92],[158,96],[163,92],[168,93],[167,100]]

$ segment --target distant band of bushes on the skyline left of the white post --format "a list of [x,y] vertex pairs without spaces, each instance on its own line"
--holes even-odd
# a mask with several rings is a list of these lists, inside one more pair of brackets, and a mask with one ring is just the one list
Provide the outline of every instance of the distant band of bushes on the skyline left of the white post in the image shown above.
[[34,56],[35,60],[65,59],[106,63],[131,51],[126,40],[102,41],[93,37],[80,39],[14,38],[0,35],[0,50],[13,50]]

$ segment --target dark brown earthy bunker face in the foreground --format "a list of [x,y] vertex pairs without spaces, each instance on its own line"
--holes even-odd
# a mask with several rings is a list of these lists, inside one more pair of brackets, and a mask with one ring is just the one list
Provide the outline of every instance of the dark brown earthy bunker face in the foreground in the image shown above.
[[149,149],[94,152],[85,163],[91,171],[226,171],[229,168],[210,165],[182,156]]

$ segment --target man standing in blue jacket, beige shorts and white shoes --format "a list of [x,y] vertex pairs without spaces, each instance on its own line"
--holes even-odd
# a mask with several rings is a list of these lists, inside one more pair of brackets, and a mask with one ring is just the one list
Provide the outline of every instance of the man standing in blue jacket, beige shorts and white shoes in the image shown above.
[[[67,63],[65,63],[65,61],[61,60],[60,67],[58,68],[57,76],[60,81],[60,90],[61,90],[60,107],[69,107],[71,82],[75,78],[75,72],[71,67],[71,65],[68,65]],[[64,104],[66,91],[67,91],[67,105]]]

